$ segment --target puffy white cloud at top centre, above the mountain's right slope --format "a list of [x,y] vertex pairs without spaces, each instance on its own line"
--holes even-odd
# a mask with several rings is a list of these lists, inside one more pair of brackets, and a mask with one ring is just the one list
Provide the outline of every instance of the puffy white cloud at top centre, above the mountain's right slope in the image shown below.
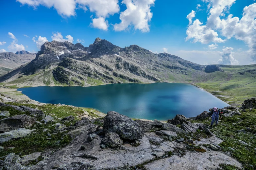
[[120,13],[119,24],[114,24],[115,31],[126,30],[130,25],[134,25],[135,30],[149,32],[149,21],[153,16],[150,7],[155,4],[155,0],[123,0],[127,9]]

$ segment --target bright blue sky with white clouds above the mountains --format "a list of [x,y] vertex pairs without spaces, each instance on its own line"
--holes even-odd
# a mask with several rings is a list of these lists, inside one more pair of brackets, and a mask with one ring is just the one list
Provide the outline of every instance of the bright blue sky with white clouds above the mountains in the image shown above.
[[255,0],[1,0],[0,52],[95,38],[197,64],[256,64]]

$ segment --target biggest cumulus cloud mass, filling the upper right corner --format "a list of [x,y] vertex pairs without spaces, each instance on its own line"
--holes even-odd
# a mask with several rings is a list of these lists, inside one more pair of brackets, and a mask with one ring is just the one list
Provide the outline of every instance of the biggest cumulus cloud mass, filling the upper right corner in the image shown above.
[[[210,42],[220,43],[227,39],[235,38],[244,41],[249,47],[248,53],[256,61],[256,3],[244,7],[242,18],[233,17],[229,14],[230,7],[236,0],[202,0],[208,3],[209,15],[203,25],[198,19],[190,24],[186,31],[186,40],[207,44]],[[226,39],[218,37],[218,31]]]

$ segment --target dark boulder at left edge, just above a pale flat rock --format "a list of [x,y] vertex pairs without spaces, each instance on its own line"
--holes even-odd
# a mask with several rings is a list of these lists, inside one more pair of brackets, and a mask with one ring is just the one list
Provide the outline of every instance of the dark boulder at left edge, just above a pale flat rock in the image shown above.
[[8,132],[11,130],[26,128],[32,126],[36,122],[36,118],[27,115],[15,115],[0,120],[0,132]]

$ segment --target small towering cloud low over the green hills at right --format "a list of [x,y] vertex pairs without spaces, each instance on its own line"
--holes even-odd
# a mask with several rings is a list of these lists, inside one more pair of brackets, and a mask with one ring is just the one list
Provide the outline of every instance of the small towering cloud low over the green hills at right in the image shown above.
[[222,49],[222,52],[220,53],[222,59],[219,59],[217,64],[239,65],[239,62],[234,59],[232,50],[234,50],[232,47],[226,47],[225,49]]

